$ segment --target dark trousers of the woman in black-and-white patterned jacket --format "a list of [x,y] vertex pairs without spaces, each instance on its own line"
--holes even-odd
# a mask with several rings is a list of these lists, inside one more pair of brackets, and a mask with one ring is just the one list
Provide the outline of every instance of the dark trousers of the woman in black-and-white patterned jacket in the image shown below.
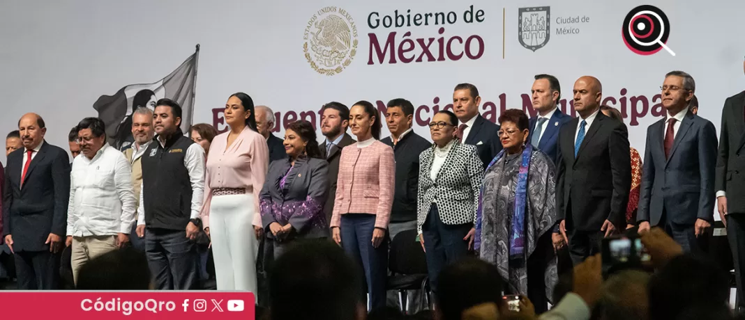
[[464,241],[473,223],[448,225],[440,220],[437,204],[432,203],[427,220],[422,225],[429,285],[437,293],[437,278],[448,264],[468,255],[468,241]]

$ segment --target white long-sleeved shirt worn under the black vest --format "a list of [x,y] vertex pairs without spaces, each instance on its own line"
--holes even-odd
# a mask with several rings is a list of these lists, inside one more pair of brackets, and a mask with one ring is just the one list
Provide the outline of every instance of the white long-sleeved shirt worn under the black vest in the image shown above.
[[[165,148],[162,141],[158,140],[160,146]],[[184,155],[184,166],[188,172],[189,181],[191,182],[191,215],[190,219],[199,218],[199,212],[202,209],[204,200],[204,148],[199,143],[192,143],[186,149]],[[145,177],[142,177],[144,180]],[[145,225],[145,188],[140,189],[140,203],[137,208],[137,225]]]

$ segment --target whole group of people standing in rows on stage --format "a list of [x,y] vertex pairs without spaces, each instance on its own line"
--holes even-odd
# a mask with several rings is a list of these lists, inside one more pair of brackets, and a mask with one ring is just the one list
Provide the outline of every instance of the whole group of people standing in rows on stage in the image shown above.
[[[434,293],[440,271],[475,252],[540,312],[554,302],[563,254],[579,264],[600,252],[601,238],[652,226],[702,252],[716,205],[742,289],[745,93],[727,100],[717,141],[696,114],[694,79],[666,74],[665,118],[647,129],[642,157],[621,113],[600,105],[600,80],[574,82],[578,117],[557,108],[556,77],[534,80],[537,116],[509,109],[498,124],[479,114],[475,85],[457,85],[452,111],[428,123],[433,143],[412,130],[406,99],[390,100],[384,117],[364,100],[327,103],[320,144],[305,120],[275,137],[273,112],[244,93],[227,99],[228,131],[200,124],[186,137],[180,105],[160,99],[133,106],[124,152],[110,146],[103,121],[80,121],[72,168],[66,151],[45,143],[42,117],[25,114],[7,140],[22,146],[6,148],[2,185],[19,288],[53,289],[64,246],[77,278],[86,261],[131,243],[147,255],[156,289],[196,288],[210,246],[217,289],[255,292],[257,255],[270,261],[297,241],[330,238],[364,270],[370,307],[384,307],[388,242],[416,230],[410,240],[422,244]],[[381,140],[382,123],[390,137]]]

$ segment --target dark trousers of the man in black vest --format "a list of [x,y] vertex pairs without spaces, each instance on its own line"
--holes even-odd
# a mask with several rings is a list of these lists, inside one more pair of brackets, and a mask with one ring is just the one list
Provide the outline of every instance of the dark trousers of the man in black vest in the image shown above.
[[199,254],[186,230],[147,228],[145,255],[157,290],[194,290],[199,287]]

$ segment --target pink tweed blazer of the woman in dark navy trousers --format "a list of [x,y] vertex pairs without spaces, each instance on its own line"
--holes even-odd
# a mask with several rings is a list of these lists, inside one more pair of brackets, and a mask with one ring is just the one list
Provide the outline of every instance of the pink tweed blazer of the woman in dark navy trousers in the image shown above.
[[368,213],[376,215],[376,228],[388,229],[394,177],[396,160],[390,146],[376,140],[365,148],[353,143],[341,149],[331,226],[340,226],[341,215]]

